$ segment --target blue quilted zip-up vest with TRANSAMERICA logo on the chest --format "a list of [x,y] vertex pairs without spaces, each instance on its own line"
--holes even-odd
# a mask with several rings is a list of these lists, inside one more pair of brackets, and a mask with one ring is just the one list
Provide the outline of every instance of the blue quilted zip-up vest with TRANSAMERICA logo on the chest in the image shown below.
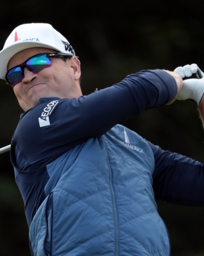
[[122,125],[47,165],[47,197],[29,230],[34,255],[170,255],[153,171],[148,143]]

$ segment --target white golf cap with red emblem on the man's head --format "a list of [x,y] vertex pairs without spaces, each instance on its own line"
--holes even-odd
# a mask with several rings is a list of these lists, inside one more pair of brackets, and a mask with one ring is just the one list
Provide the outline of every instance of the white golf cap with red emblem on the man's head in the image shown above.
[[46,47],[74,56],[69,41],[48,23],[27,23],[16,27],[0,51],[0,78],[5,79],[7,65],[18,52],[31,47]]

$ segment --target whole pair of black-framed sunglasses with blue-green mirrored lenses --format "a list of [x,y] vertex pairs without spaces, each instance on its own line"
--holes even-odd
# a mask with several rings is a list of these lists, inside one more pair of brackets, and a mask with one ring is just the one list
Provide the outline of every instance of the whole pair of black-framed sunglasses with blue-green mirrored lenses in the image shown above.
[[37,74],[40,70],[52,66],[50,58],[71,58],[72,55],[69,53],[40,53],[32,56],[25,62],[18,66],[15,66],[7,71],[5,80],[8,85],[14,87],[16,84],[21,83],[24,77],[24,68],[27,68],[34,74]]

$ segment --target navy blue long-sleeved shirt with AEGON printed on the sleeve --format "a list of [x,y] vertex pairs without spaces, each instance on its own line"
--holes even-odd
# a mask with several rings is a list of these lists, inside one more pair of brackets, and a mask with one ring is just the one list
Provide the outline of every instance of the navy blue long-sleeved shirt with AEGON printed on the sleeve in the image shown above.
[[[40,99],[37,106],[22,114],[11,141],[11,161],[28,224],[45,199],[47,164],[114,125],[165,105],[176,93],[172,76],[159,69],[144,70],[76,99]],[[201,204],[203,164],[149,145],[155,156],[155,196],[168,202]],[[194,193],[188,193],[189,187]]]

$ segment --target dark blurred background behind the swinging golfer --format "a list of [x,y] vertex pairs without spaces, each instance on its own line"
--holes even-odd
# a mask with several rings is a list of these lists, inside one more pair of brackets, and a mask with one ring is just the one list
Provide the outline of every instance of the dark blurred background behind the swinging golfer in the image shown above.
[[[0,48],[21,23],[51,23],[79,56],[81,86],[88,94],[141,69],[174,70],[191,63],[204,69],[203,7],[202,0],[4,1]],[[10,144],[22,110],[4,81],[0,81],[0,95],[0,147],[4,147]],[[163,149],[204,162],[196,102],[176,101],[149,110],[127,121],[126,126]],[[0,255],[30,255],[28,227],[9,152],[1,154],[0,159]],[[204,255],[204,207],[158,202],[158,211],[169,230],[172,255]]]

